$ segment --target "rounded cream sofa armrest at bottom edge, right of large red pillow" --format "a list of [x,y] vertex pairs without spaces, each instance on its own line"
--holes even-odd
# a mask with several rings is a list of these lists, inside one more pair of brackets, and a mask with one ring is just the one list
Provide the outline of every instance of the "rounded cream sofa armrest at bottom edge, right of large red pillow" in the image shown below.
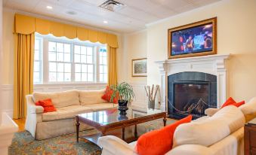
[[205,147],[200,144],[183,144],[172,148],[165,155],[180,155],[180,154],[190,154],[190,155],[217,155],[215,151],[210,147]]

